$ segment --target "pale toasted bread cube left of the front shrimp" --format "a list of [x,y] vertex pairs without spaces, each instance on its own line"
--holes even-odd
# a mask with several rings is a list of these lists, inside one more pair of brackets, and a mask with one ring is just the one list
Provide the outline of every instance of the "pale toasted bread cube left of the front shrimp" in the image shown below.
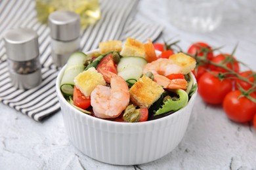
[[95,67],[91,67],[87,71],[79,73],[79,75],[75,76],[74,82],[75,86],[85,96],[90,96],[91,92],[93,92],[98,84],[106,86],[103,76],[96,71]]

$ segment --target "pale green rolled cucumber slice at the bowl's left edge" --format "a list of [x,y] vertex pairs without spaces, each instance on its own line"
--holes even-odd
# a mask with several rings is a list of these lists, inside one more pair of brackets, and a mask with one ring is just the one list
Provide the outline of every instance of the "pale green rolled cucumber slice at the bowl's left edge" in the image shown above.
[[68,59],[66,69],[60,83],[60,90],[64,95],[73,95],[74,78],[85,69],[83,63],[88,58],[89,57],[83,52],[75,52]]

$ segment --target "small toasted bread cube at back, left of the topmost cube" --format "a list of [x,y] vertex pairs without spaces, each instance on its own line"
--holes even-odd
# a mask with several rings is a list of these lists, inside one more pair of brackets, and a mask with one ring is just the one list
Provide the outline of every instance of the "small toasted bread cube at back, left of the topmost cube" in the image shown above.
[[100,42],[98,44],[98,47],[100,48],[101,54],[105,54],[105,53],[111,52],[111,51],[121,52],[122,42],[116,41],[116,40]]

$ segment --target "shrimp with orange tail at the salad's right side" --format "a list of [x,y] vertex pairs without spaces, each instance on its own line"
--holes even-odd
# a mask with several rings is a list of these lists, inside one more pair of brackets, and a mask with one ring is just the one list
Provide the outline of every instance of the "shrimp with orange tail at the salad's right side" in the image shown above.
[[188,82],[184,79],[177,78],[170,80],[166,77],[173,73],[182,73],[182,68],[170,59],[159,58],[156,61],[152,61],[152,63],[147,63],[144,66],[143,73],[146,74],[148,71],[153,73],[154,81],[163,86],[163,88],[186,89],[188,85]]

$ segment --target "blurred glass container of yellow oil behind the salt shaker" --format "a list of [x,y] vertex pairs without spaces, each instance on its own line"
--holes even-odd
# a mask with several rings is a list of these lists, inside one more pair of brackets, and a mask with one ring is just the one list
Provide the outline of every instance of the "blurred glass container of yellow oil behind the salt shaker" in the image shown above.
[[80,15],[81,27],[95,24],[100,19],[98,0],[35,0],[37,20],[47,24],[47,18],[55,10],[70,10]]

